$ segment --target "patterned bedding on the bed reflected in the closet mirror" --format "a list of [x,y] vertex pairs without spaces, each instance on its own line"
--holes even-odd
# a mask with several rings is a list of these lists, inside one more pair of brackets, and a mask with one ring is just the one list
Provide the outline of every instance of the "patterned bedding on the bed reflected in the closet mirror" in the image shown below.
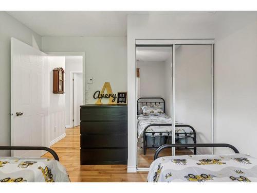
[[[138,135],[138,144],[142,146],[143,143],[143,131],[144,128],[149,126],[150,124],[172,124],[172,119],[166,114],[157,114],[157,115],[144,115],[140,114],[137,116],[137,135]],[[175,122],[176,125],[181,125],[180,122]],[[176,138],[185,138],[185,134],[183,133],[192,133],[187,136],[190,138],[193,137],[193,131],[189,127],[176,127],[176,133],[180,133]],[[164,132],[162,136],[171,136],[172,126],[151,126],[147,130],[147,132]],[[169,135],[168,135],[169,132]],[[146,133],[146,136],[153,136],[152,133]],[[155,133],[154,136],[159,136],[159,133]],[[188,139],[189,139],[188,138]]]

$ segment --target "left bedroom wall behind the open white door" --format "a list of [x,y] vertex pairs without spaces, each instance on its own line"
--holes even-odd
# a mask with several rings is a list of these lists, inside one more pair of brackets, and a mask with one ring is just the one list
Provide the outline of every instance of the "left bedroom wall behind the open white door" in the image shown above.
[[[11,54],[10,38],[21,40],[35,48],[41,48],[39,34],[15,20],[5,11],[0,11],[0,145],[11,145]],[[0,152],[8,155],[9,152]]]

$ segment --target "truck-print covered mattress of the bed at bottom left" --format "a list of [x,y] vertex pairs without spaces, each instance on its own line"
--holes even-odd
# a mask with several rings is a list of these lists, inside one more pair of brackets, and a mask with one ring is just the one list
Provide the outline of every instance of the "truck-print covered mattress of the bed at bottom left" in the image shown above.
[[70,182],[57,160],[41,157],[0,157],[0,182]]

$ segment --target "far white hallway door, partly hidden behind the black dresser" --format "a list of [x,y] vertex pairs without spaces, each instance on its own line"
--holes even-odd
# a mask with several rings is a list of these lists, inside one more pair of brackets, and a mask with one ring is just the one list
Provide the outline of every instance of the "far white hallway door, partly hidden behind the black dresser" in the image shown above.
[[83,104],[83,74],[73,74],[73,127],[80,125],[80,106]]

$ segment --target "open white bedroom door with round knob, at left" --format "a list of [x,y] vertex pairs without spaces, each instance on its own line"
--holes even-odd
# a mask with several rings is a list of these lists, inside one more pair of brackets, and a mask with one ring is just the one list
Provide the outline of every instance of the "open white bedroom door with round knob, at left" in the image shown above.
[[[47,66],[44,52],[11,38],[11,145],[45,146]],[[43,151],[12,151],[41,156]]]

